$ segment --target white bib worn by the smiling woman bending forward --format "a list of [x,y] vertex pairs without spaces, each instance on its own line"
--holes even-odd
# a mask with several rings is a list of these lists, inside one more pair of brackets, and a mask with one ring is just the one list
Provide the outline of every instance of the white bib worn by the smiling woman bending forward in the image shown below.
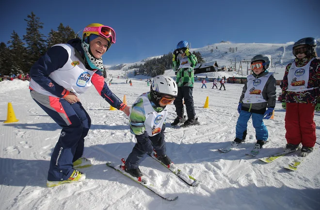
[[[60,86],[64,87],[66,90],[80,95],[81,93],[88,90],[92,85],[91,78],[92,75],[97,70],[88,70],[85,68],[84,64],[75,56],[75,49],[68,44],[58,44],[54,46],[62,46],[67,50],[69,59],[64,64],[64,66],[56,71],[52,72],[49,77],[58,83]],[[44,95],[54,96],[47,90],[44,90],[40,85],[31,79],[30,87]]]

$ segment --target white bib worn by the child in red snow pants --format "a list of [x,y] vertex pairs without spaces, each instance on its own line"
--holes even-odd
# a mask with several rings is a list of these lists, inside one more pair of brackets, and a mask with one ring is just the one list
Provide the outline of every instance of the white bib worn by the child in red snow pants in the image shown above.
[[309,81],[309,68],[311,59],[305,66],[297,67],[296,62],[292,62],[291,67],[288,71],[288,89],[287,91],[292,92],[303,92],[306,90],[313,90],[314,88],[307,88]]

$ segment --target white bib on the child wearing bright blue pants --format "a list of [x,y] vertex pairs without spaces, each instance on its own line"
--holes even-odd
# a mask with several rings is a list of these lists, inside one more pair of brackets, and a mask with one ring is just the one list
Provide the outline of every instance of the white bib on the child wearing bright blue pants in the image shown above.
[[268,73],[259,78],[253,75],[247,76],[247,90],[244,93],[243,103],[256,104],[266,102],[262,96],[262,91],[272,73]]

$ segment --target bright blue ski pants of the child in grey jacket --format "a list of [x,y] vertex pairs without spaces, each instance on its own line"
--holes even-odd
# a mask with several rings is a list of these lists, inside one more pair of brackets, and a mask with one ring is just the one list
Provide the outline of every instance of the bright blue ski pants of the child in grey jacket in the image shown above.
[[247,130],[248,120],[252,116],[252,124],[256,129],[256,140],[267,141],[268,129],[263,123],[263,115],[241,110],[236,126],[236,137],[242,139],[243,132]]

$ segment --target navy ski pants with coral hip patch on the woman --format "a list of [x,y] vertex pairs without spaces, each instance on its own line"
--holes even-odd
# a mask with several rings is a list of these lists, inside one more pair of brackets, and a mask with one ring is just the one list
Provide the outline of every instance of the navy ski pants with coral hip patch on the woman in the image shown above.
[[80,102],[71,105],[63,98],[43,95],[34,90],[30,93],[32,99],[62,127],[51,155],[48,180],[67,180],[74,171],[73,162],[82,156],[84,137],[89,132],[91,119]]

